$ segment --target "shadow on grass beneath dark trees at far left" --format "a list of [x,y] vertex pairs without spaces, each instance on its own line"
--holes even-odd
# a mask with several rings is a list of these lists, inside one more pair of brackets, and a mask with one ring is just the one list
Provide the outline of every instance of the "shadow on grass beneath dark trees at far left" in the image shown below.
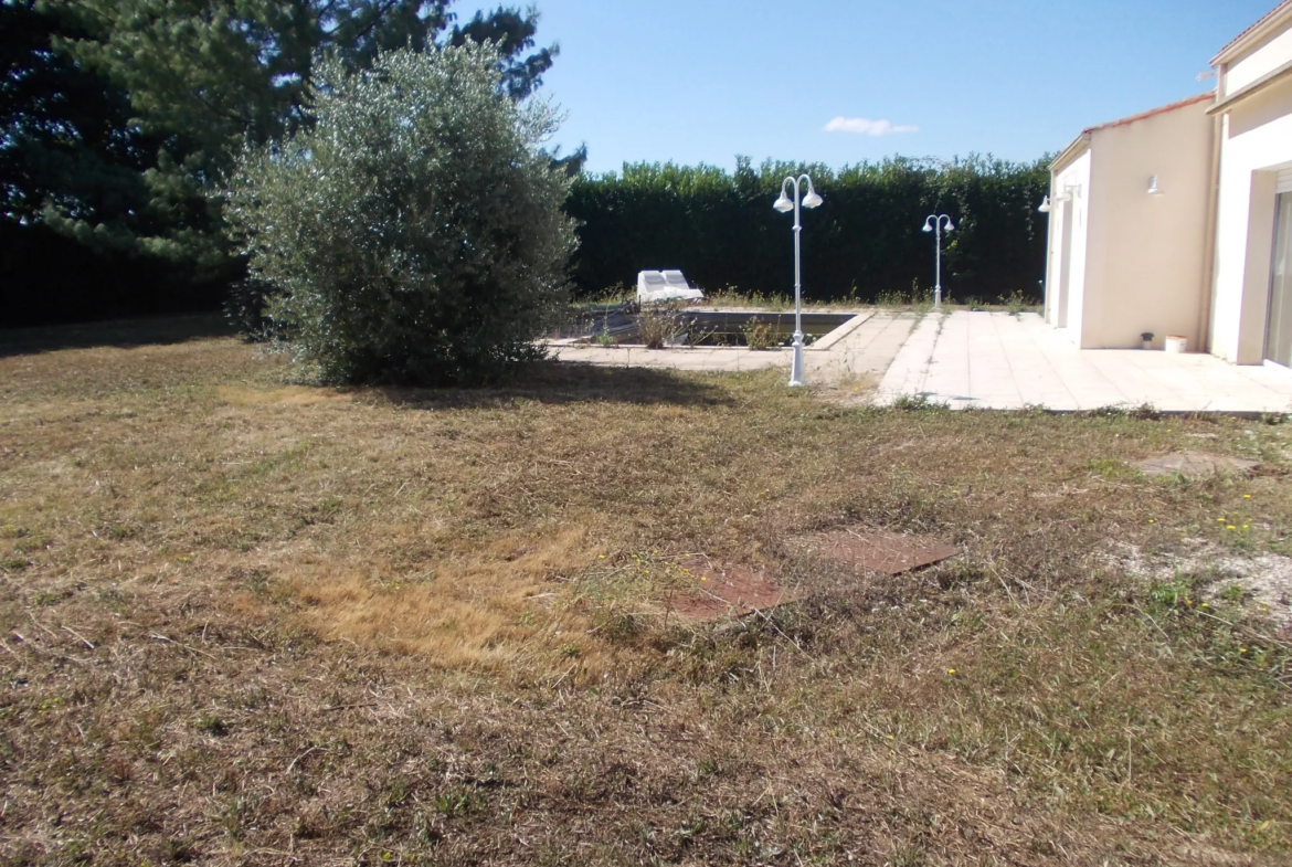
[[114,319],[66,326],[0,328],[0,358],[93,346],[160,346],[202,337],[230,337],[235,329],[220,313],[155,319]]

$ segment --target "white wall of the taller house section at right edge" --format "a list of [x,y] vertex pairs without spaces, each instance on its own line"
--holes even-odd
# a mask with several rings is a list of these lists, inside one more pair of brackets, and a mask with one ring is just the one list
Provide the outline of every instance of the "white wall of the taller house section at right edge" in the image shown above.
[[[1261,49],[1286,50],[1282,59],[1264,58],[1270,68],[1292,61],[1292,40],[1283,40],[1289,32]],[[1245,62],[1231,65],[1230,75]],[[1278,169],[1292,165],[1292,81],[1279,81],[1226,111],[1220,141],[1211,350],[1239,364],[1258,364],[1274,252],[1275,180]]]

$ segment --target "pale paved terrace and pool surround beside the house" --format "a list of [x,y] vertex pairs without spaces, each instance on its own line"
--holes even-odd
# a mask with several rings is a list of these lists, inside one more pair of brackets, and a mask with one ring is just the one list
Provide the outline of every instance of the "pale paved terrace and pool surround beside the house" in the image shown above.
[[[553,346],[562,360],[691,371],[788,371],[788,349]],[[1292,372],[1212,355],[1079,350],[1036,314],[866,311],[804,357],[809,382],[881,376],[875,402],[926,397],[952,408],[1292,412]]]

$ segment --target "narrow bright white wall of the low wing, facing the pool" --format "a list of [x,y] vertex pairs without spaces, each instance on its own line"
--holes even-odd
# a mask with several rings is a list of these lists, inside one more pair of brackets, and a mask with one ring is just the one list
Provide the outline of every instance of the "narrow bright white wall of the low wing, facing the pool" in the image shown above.
[[[1058,202],[1065,191],[1071,199]],[[1081,332],[1085,298],[1087,238],[1090,226],[1090,151],[1068,162],[1050,178],[1049,256],[1045,265],[1045,318],[1072,335]]]

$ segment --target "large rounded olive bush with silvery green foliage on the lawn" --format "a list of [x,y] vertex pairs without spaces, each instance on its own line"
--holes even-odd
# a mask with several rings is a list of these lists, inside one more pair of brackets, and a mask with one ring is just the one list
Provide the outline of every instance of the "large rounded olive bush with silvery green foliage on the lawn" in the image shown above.
[[490,44],[319,58],[313,123],[248,147],[227,217],[269,317],[323,381],[464,384],[537,357],[567,297],[568,174],[545,101]]

